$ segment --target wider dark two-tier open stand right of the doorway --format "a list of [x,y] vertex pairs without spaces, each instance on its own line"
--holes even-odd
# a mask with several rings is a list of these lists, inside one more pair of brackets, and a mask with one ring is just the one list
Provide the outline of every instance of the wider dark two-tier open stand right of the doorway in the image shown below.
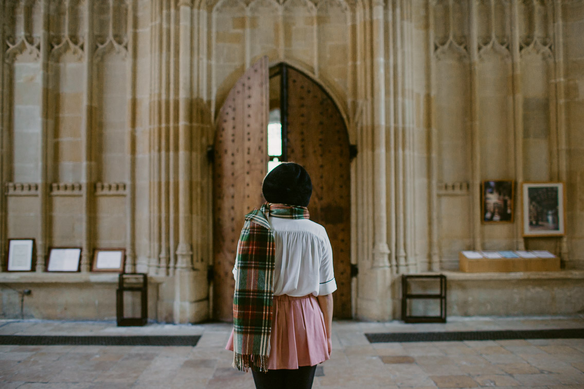
[[[440,293],[409,293],[410,279],[427,279],[440,283]],[[409,300],[439,300],[440,316],[410,316]],[[446,276],[443,274],[404,274],[402,275],[402,320],[405,323],[446,323]]]

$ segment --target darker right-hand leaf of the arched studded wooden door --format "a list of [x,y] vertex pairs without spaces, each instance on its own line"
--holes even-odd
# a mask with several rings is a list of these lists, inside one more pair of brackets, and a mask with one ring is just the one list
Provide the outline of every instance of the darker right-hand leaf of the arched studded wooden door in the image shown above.
[[310,218],[326,228],[333,250],[334,316],[350,318],[349,136],[336,104],[321,87],[290,67],[286,78],[287,160],[303,165],[312,179]]

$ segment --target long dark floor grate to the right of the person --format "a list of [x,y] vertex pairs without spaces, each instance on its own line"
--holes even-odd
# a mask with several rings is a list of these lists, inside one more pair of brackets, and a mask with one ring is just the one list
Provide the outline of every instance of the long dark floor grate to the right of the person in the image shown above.
[[383,332],[365,334],[370,343],[497,341],[507,339],[571,339],[584,338],[584,328],[567,330],[502,330],[446,332]]

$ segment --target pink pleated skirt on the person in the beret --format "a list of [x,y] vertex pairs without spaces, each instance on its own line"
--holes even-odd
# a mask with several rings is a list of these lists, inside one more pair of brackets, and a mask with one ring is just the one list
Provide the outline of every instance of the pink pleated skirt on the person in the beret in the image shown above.
[[[225,349],[233,351],[233,331]],[[329,358],[325,320],[317,298],[274,296],[267,368],[298,369]]]

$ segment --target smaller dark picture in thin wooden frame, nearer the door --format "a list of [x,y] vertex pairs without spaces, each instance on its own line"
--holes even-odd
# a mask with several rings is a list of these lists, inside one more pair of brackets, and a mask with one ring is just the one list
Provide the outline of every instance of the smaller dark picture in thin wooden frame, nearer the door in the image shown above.
[[483,223],[513,223],[513,181],[482,181]]

